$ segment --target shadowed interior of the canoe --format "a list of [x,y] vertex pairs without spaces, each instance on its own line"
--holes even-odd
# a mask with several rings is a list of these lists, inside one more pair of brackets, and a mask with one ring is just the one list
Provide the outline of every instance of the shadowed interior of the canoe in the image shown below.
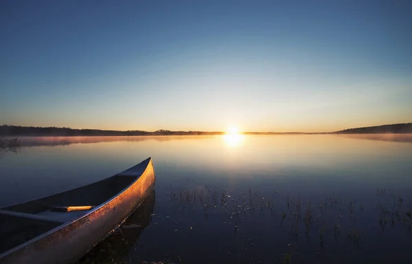
[[[115,175],[57,195],[27,201],[0,210],[0,254],[53,228],[87,214],[90,210],[55,212],[55,206],[100,206],[140,175]],[[93,209],[91,209],[93,210]]]

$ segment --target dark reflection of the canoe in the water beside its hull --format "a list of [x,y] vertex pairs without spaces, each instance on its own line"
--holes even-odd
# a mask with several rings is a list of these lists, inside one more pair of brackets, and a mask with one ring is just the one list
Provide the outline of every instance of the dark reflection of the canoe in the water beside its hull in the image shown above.
[[150,225],[155,196],[155,190],[152,190],[118,230],[96,245],[76,264],[124,263],[128,251],[133,248],[141,232]]

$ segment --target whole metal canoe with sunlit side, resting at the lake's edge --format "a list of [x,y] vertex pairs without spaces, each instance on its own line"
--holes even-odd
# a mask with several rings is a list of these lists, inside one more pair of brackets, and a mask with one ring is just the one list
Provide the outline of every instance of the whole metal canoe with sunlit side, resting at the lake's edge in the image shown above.
[[149,157],[94,184],[0,208],[0,263],[74,263],[121,225],[154,188]]

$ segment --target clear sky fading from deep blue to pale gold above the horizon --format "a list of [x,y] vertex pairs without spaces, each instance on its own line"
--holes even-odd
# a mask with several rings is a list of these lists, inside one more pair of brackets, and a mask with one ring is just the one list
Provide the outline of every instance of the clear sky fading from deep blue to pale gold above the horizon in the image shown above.
[[412,122],[412,1],[0,1],[0,124]]

